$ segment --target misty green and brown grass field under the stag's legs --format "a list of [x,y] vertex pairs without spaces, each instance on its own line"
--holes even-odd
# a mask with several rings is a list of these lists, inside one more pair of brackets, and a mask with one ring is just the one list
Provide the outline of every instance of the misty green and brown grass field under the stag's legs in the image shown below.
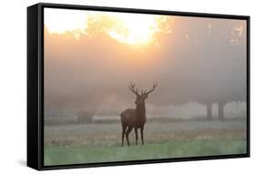
[[[46,125],[45,165],[138,159],[167,159],[246,153],[246,120],[148,122],[145,145],[121,147],[121,126],[114,123]],[[125,145],[127,142],[125,141]]]

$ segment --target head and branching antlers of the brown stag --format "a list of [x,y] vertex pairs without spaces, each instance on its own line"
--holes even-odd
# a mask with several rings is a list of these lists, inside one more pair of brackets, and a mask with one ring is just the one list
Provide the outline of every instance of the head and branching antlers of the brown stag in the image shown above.
[[136,95],[135,104],[136,105],[142,105],[145,104],[145,100],[147,99],[148,95],[155,90],[155,88],[158,86],[156,82],[153,82],[153,87],[150,90],[140,90],[140,93],[138,92],[138,88],[136,87],[136,84],[133,84],[132,82],[129,83],[128,88],[131,92],[133,92]]

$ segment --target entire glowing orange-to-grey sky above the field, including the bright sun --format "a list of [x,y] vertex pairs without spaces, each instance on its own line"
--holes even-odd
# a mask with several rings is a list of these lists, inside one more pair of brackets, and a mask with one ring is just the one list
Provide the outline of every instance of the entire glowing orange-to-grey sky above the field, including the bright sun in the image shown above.
[[[246,21],[45,9],[46,110],[134,107],[130,81],[156,90],[149,113],[246,101]],[[193,106],[193,107],[191,107]]]

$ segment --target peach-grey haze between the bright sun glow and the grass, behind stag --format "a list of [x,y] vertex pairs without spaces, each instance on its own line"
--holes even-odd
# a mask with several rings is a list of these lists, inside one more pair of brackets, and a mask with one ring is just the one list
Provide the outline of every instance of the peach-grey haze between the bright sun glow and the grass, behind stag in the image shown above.
[[[170,22],[172,21],[172,22]],[[52,34],[45,27],[45,111],[89,110],[118,116],[135,107],[138,89],[158,87],[146,100],[150,117],[200,117],[210,103],[225,115],[245,115],[246,22],[169,16],[169,33],[150,46],[128,46],[96,32]]]

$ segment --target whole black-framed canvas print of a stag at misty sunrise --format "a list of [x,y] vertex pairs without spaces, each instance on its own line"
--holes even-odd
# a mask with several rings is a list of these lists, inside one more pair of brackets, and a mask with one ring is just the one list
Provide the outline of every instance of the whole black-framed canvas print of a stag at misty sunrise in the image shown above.
[[27,7],[27,166],[250,157],[250,17]]

